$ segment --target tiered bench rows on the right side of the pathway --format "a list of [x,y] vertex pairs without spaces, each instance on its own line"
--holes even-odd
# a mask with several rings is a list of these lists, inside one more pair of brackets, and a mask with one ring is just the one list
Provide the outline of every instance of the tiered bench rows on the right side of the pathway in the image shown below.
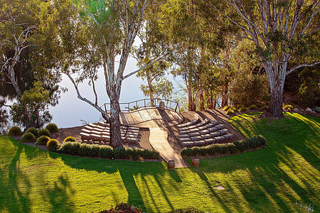
[[179,140],[185,147],[207,146],[233,137],[233,134],[228,133],[228,129],[225,129],[223,124],[218,124],[218,121],[210,121],[208,118],[200,121],[198,115],[192,121],[177,126]]

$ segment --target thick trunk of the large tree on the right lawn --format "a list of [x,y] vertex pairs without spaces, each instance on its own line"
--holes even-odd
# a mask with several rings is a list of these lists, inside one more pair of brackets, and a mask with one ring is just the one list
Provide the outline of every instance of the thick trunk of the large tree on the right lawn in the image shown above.
[[287,62],[283,62],[282,64],[276,62],[265,62],[264,67],[270,83],[270,106],[265,115],[272,118],[281,118],[283,117],[282,94],[284,80],[286,77]]

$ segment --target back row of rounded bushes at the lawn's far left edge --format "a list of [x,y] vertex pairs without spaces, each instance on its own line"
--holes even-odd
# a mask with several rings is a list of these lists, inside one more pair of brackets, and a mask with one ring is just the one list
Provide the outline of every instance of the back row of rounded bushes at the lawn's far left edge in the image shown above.
[[[33,136],[39,138],[40,136],[50,137],[50,133],[55,133],[55,132],[58,132],[58,126],[55,124],[48,124],[45,129],[38,130],[34,127],[31,127],[29,129],[27,129],[25,133],[32,133]],[[8,135],[9,136],[22,136],[23,132],[21,131],[21,129],[18,126],[12,126],[9,129]]]

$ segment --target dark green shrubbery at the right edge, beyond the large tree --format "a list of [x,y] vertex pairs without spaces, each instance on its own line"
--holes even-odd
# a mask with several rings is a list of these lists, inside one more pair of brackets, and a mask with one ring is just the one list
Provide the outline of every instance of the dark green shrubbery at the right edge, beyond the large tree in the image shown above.
[[304,107],[320,104],[320,72],[317,67],[306,67],[299,73],[302,84],[299,87],[298,97]]

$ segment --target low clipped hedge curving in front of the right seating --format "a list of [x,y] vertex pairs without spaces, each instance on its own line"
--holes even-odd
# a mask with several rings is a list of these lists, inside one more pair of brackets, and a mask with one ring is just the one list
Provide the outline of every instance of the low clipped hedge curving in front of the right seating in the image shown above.
[[267,146],[266,139],[263,136],[254,136],[233,143],[214,143],[203,147],[183,148],[181,155],[188,158],[191,156],[233,154],[264,146]]

